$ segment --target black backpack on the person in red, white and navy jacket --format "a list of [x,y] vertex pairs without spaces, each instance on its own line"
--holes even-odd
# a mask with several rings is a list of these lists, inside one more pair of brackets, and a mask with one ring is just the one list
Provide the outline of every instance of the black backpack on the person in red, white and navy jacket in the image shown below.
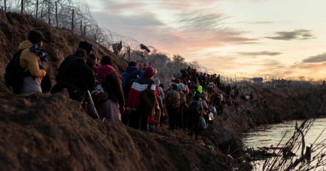
[[151,79],[149,79],[147,88],[140,94],[140,101],[137,107],[138,112],[144,117],[154,115],[156,96],[151,90],[151,86]]

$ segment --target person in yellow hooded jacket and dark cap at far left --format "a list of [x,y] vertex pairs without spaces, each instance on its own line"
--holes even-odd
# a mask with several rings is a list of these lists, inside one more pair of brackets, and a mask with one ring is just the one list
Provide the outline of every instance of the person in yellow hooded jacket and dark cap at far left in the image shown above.
[[42,62],[47,56],[43,47],[44,36],[41,32],[32,30],[29,33],[29,40],[19,44],[20,67],[24,69],[21,93],[40,92],[42,93],[41,81],[46,75]]

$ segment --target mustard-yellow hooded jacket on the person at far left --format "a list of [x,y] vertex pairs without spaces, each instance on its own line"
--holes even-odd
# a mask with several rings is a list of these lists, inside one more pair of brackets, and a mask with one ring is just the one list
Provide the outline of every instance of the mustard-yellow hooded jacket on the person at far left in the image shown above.
[[30,51],[32,43],[29,40],[21,42],[18,46],[18,50],[24,49],[20,54],[20,66],[26,68],[25,71],[30,71],[33,77],[44,77],[46,71],[40,69],[37,55]]

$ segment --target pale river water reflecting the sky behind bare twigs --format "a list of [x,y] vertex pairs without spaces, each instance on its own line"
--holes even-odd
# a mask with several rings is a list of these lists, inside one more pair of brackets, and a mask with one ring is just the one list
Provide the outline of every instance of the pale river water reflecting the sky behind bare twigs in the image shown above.
[[[297,121],[298,125],[300,125],[303,121]],[[244,136],[244,144],[246,147],[253,147],[255,150],[258,150],[256,147],[276,147],[282,137],[285,135],[286,139],[283,144],[280,144],[279,147],[283,147],[286,141],[293,135],[295,130],[295,123],[296,121],[287,121],[281,124],[271,124],[271,125],[263,125],[258,127],[255,130],[252,130],[245,134]],[[306,146],[310,146],[310,144],[314,143],[316,138],[320,135],[323,129],[326,128],[326,118],[325,119],[316,119],[313,123],[312,127],[310,128],[309,132],[305,136]],[[321,142],[322,140],[326,139],[326,131],[321,134],[321,136],[316,141]],[[325,144],[323,144],[325,145]],[[314,147],[313,147],[314,148]],[[315,156],[318,152],[316,151],[311,154],[311,157]],[[294,152],[296,155],[301,155],[301,150]],[[262,164],[264,160],[255,161],[256,168],[254,170],[262,170]],[[323,168],[318,168],[316,170],[326,170],[326,165]]]

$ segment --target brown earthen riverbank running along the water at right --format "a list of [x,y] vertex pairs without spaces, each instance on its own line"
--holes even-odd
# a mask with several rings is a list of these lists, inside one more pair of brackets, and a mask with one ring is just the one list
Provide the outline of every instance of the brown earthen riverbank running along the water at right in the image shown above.
[[[326,89],[270,89],[241,88],[243,95],[253,92],[253,100],[240,100],[240,107],[225,106],[224,113],[215,118],[205,131],[206,140],[225,154],[241,157],[243,133],[262,124],[276,124],[288,120],[325,117]],[[265,99],[266,103],[262,99]],[[248,115],[248,110],[251,116]]]

